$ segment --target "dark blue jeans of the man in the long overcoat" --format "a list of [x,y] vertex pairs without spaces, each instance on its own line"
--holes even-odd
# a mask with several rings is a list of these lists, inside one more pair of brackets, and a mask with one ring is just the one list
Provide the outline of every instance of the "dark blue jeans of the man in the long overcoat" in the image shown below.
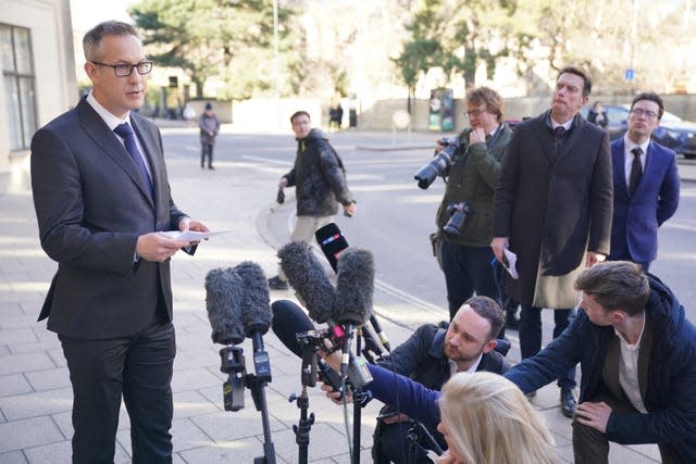
[[[554,338],[566,330],[566,327],[575,318],[576,312],[572,310],[554,311]],[[520,351],[522,359],[532,358],[542,350],[542,309],[522,305],[520,312]],[[559,377],[560,388],[575,388],[575,366],[568,369],[564,376]]]

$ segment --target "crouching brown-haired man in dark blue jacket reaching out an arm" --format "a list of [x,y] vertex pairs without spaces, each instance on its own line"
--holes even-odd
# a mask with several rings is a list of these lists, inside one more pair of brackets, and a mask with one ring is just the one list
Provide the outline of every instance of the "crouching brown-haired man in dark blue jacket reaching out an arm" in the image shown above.
[[625,261],[585,269],[577,318],[507,372],[525,393],[580,362],[576,464],[607,463],[609,441],[657,443],[663,463],[696,462],[696,329],[657,277]]

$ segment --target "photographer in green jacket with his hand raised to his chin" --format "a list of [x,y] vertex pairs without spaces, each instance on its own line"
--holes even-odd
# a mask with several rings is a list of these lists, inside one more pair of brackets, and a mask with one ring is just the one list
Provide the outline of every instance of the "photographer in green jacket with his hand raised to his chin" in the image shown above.
[[495,90],[469,91],[464,113],[469,127],[456,139],[451,162],[438,173],[447,176],[436,222],[450,318],[474,291],[500,300],[489,244],[493,196],[502,151],[512,137],[502,123],[502,110]]

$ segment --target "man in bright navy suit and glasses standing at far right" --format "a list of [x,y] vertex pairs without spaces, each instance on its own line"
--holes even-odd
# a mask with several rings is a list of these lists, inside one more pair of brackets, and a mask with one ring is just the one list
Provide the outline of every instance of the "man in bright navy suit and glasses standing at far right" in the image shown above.
[[664,113],[652,92],[633,99],[629,129],[611,143],[613,222],[610,260],[638,263],[648,271],[657,258],[657,229],[679,204],[679,173],[674,152],[650,140]]

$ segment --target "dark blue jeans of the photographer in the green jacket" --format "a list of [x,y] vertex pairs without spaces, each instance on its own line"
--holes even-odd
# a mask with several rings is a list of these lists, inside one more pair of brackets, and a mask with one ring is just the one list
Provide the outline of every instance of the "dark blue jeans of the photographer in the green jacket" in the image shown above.
[[467,247],[440,240],[439,251],[447,284],[450,321],[474,291],[500,303],[495,268],[490,264],[494,259],[490,247]]

